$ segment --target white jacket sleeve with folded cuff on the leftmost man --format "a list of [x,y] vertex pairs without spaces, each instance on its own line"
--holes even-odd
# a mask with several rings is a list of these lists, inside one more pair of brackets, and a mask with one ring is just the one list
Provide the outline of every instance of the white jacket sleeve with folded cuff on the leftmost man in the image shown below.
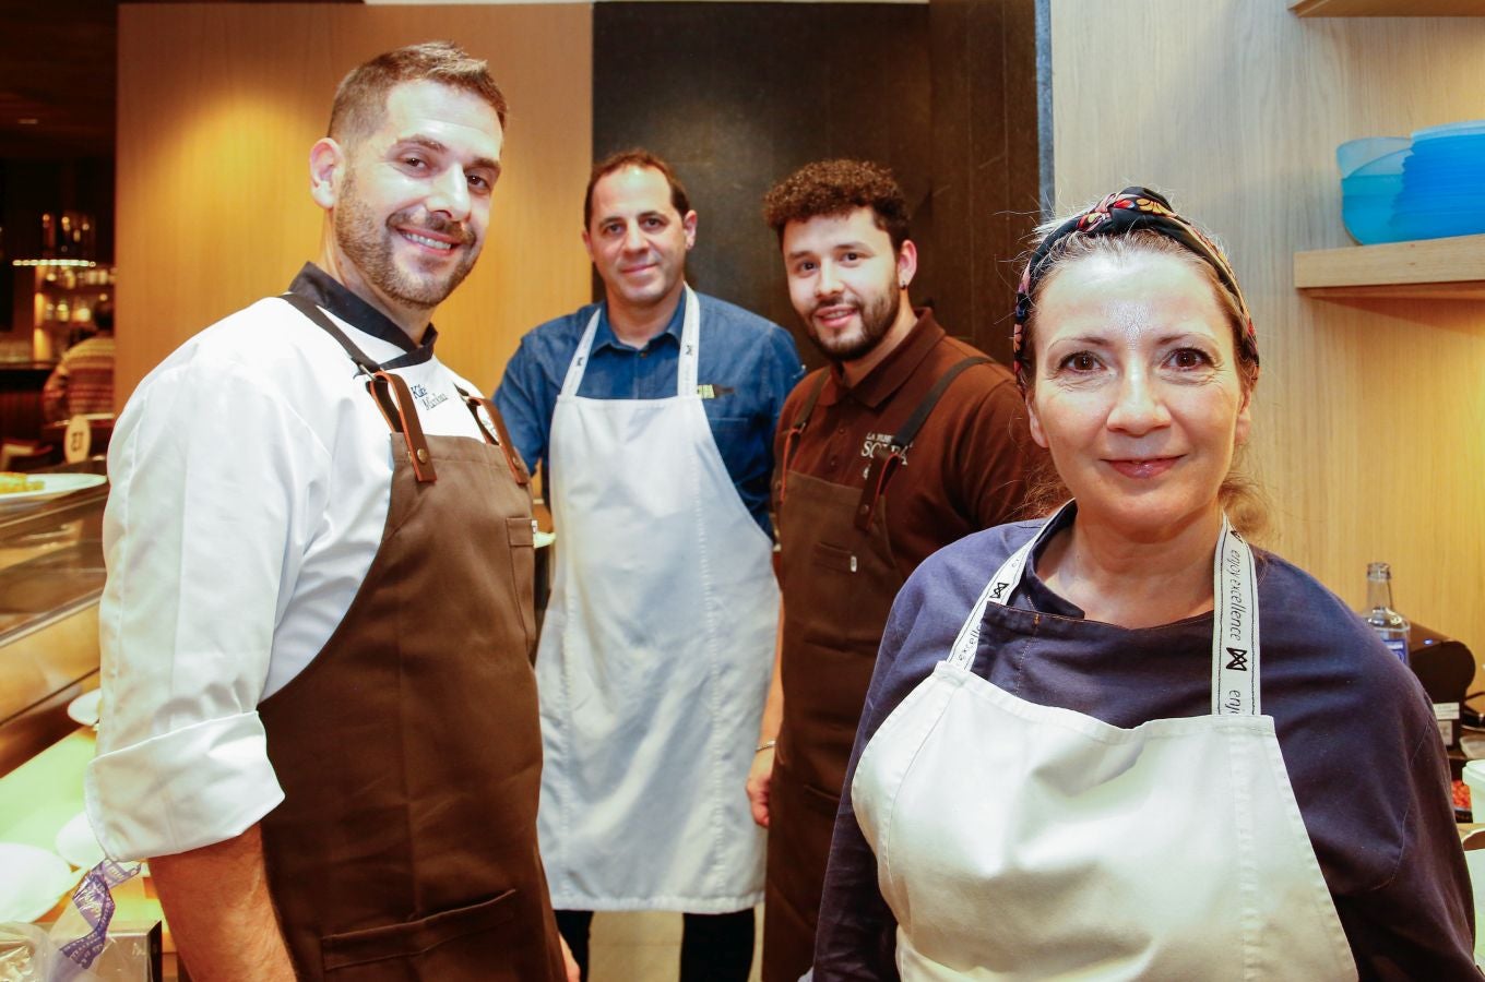
[[257,705],[330,454],[282,389],[198,355],[147,380],[119,421],[85,782],[116,859],[229,840],[284,798]]

